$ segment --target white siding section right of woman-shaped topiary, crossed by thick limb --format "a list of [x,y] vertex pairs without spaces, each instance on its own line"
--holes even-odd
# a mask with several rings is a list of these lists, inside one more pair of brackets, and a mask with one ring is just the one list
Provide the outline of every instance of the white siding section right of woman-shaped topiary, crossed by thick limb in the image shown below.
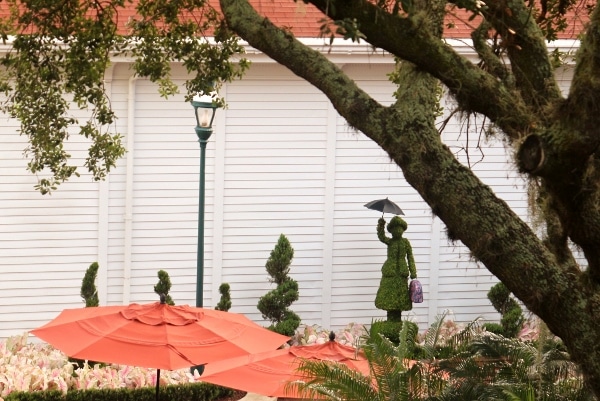
[[[455,119],[444,132],[444,141],[458,159],[470,166],[499,198],[506,201],[517,214],[527,218],[524,181],[510,162],[511,150],[495,138],[486,138],[486,128],[481,119]],[[471,258],[466,247],[447,239],[443,224],[441,229],[436,277],[438,312],[448,310],[459,321],[498,319],[499,315],[487,299],[487,292],[498,280]]]

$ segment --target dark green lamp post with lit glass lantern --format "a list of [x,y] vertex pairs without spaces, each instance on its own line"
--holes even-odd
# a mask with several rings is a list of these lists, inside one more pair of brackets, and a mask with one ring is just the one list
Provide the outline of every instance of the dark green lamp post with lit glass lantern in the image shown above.
[[196,306],[202,307],[204,286],[204,192],[206,168],[206,144],[212,135],[217,104],[208,95],[194,96],[192,106],[196,114],[196,135],[200,142],[200,190],[198,194],[198,253],[196,259]]

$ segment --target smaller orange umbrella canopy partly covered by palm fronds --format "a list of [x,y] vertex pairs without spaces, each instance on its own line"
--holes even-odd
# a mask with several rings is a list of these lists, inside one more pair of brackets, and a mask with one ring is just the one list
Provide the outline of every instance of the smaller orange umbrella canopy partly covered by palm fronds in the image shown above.
[[285,387],[291,381],[303,379],[296,372],[301,359],[343,363],[369,375],[369,363],[362,352],[328,341],[209,363],[200,380],[269,397],[299,398],[295,390]]

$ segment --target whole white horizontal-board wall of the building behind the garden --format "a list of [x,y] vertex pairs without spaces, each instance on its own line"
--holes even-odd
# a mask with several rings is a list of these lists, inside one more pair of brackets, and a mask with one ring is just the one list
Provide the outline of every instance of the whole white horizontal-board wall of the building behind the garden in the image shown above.
[[[392,101],[391,63],[368,57],[345,71],[376,99]],[[20,334],[80,307],[81,279],[100,261],[102,304],[156,300],[156,272],[166,270],[176,303],[195,303],[200,149],[191,106],[165,100],[125,64],[109,72],[118,130],[129,153],[103,183],[85,174],[51,196],[34,191],[25,171],[24,138],[0,120],[0,337]],[[176,77],[183,83],[181,69]],[[204,305],[218,286],[232,288],[233,312],[262,323],[258,298],[269,291],[264,264],[280,234],[295,249],[291,275],[300,284],[292,308],[305,323],[336,329],[385,316],[374,307],[386,249],[379,214],[364,208],[389,197],[405,212],[425,302],[407,313],[421,328],[450,309],[459,321],[496,319],[486,292],[494,278],[449,243],[445,228],[381,149],[350,129],[313,87],[273,63],[253,64],[228,84],[207,148]],[[462,135],[457,132],[463,131]],[[445,134],[463,160],[482,156],[460,122]],[[454,138],[454,139],[452,139]],[[74,137],[74,158],[85,144]],[[474,166],[511,207],[526,216],[523,182],[500,143],[483,141]],[[389,216],[387,216],[389,218]]]

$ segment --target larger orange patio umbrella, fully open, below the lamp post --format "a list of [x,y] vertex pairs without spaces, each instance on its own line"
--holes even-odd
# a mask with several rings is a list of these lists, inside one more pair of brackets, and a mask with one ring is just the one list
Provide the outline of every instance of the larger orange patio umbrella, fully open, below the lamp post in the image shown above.
[[32,330],[70,357],[175,370],[276,349],[289,337],[244,315],[164,302],[66,309]]

